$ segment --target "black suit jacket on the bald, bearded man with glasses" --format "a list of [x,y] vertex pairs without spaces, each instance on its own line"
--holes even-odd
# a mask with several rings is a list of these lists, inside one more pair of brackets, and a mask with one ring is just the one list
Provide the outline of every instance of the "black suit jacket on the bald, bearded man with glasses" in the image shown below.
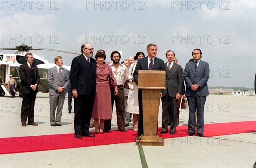
[[77,90],[78,95],[89,95],[92,90],[96,92],[96,60],[90,58],[90,64],[83,54],[72,60],[70,84],[73,90]]

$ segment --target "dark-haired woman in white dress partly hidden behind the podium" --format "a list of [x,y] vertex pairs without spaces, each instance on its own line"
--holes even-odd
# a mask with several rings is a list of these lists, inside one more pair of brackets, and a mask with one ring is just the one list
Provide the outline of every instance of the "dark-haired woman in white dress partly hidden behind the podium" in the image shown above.
[[[134,56],[135,60],[139,60],[140,58],[145,57],[143,52],[138,52],[136,56]],[[129,92],[128,92],[128,100],[126,111],[133,114],[134,119],[134,131],[138,131],[138,120],[139,120],[139,101],[138,101],[138,87],[134,81],[133,73],[136,67],[136,63],[131,64],[128,72],[128,80],[129,80]]]

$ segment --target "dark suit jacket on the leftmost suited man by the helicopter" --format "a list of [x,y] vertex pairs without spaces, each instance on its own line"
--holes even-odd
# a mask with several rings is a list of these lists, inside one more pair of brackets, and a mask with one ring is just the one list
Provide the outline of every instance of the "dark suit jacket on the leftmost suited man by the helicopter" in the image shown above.
[[[33,65],[33,70],[35,74],[35,84],[39,85],[40,82],[40,76],[38,73],[38,67],[36,65]],[[19,75],[20,75],[20,93],[29,94],[30,91],[33,91],[31,89],[32,85],[32,76],[30,67],[28,66],[27,62],[25,64],[20,65],[19,68]],[[36,92],[38,92],[38,87],[36,87]]]

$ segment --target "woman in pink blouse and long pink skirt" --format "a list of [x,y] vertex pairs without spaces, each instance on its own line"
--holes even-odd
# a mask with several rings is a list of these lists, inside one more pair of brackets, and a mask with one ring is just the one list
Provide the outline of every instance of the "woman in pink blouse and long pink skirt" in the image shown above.
[[118,94],[118,91],[116,79],[113,75],[111,67],[104,62],[106,59],[106,54],[104,50],[98,50],[95,55],[95,59],[97,61],[97,85],[92,118],[94,118],[95,133],[97,134],[103,133],[104,120],[112,118],[111,92],[109,86],[110,78],[112,78],[114,81],[115,95]]

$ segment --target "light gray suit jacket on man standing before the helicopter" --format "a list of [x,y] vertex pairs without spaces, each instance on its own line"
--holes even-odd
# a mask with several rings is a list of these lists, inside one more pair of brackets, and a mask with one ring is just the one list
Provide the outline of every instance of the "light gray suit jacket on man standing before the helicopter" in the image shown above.
[[[62,96],[67,95],[67,86],[69,84],[69,77],[67,69],[61,67],[61,78],[59,78],[59,73],[57,67],[49,68],[48,70],[48,84],[49,84],[49,95],[50,96],[58,96],[61,94]],[[58,87],[64,87],[65,90],[63,92],[58,92]]]

